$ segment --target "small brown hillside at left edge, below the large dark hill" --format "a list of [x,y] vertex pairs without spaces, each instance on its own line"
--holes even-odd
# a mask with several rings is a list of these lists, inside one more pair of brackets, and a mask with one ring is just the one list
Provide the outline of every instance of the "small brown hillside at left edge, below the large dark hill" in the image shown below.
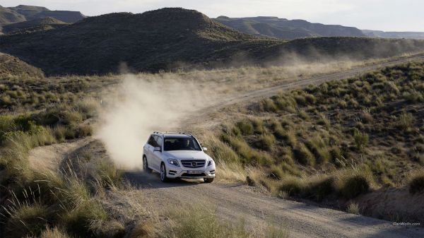
[[44,73],[16,57],[0,53],[0,77],[4,76],[43,77]]

